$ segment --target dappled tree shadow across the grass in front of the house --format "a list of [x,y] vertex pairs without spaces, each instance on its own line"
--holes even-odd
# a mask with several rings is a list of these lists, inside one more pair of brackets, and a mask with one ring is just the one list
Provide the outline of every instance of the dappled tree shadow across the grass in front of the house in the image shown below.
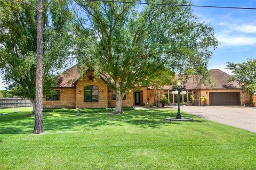
[[[163,124],[182,124],[180,122],[162,121],[165,117],[175,117],[176,111],[159,109],[126,111],[122,115],[111,113],[83,113],[77,116],[74,113],[44,113],[44,131],[83,129],[90,130],[99,126],[123,126],[131,124],[140,128],[159,128]],[[182,114],[182,116],[195,118],[197,116]],[[33,116],[32,116],[33,117]],[[34,118],[28,115],[17,114],[7,120],[0,120],[0,134],[32,133]],[[194,120],[195,123],[203,123],[203,120]],[[2,124],[3,123],[3,124]],[[15,126],[22,128],[15,128]]]

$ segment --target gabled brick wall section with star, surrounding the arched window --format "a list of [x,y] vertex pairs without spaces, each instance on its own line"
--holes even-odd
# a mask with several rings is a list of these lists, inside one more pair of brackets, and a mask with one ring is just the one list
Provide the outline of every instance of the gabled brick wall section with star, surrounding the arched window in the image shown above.
[[[93,77],[95,75],[93,74],[93,71],[90,70],[89,72],[86,73],[85,77],[77,82],[76,85],[76,107],[77,108],[104,108],[108,107],[108,87],[101,78],[94,78],[93,81],[87,78],[92,74]],[[97,86],[98,87],[98,92],[99,92],[99,101],[98,102],[84,102],[84,88],[86,86]],[[103,90],[103,91],[102,91]],[[79,94],[80,91],[80,94]]]

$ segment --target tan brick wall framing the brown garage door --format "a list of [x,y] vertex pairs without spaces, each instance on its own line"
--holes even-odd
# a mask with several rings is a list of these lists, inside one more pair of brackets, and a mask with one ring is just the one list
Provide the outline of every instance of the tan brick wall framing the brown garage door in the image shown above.
[[207,98],[206,104],[210,105],[210,92],[240,92],[240,103],[241,105],[247,100],[247,95],[242,89],[204,89],[201,90],[201,97],[205,96]]

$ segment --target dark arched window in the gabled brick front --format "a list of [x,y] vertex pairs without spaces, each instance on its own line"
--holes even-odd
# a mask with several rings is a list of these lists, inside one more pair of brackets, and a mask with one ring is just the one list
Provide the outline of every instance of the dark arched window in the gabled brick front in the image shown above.
[[98,102],[99,89],[97,86],[86,86],[84,88],[84,102]]

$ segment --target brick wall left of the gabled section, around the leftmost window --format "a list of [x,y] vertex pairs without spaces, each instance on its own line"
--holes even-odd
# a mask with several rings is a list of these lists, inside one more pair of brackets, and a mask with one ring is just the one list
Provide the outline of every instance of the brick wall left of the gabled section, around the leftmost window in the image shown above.
[[[43,97],[43,108],[75,108],[76,89],[75,88],[53,88],[50,90],[60,90],[60,100],[46,100]],[[61,92],[62,91],[62,92]]]

